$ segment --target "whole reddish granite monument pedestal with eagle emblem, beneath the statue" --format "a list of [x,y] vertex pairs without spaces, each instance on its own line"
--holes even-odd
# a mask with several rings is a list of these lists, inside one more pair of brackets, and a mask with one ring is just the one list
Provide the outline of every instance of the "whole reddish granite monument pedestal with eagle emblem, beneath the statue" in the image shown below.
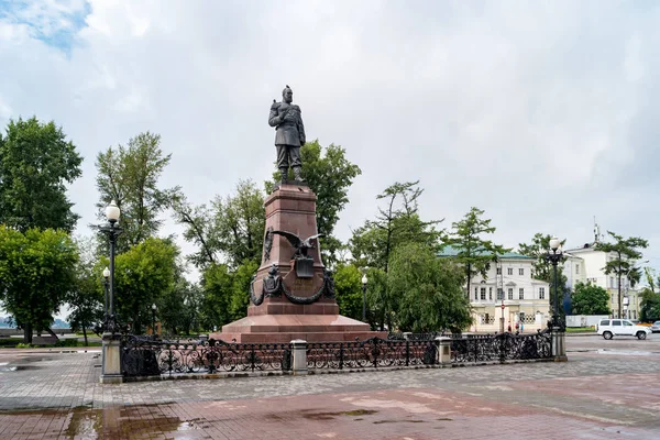
[[306,185],[283,183],[264,204],[264,252],[251,283],[248,317],[210,338],[243,343],[384,338],[367,323],[339,315],[332,274],[318,244],[316,195]]

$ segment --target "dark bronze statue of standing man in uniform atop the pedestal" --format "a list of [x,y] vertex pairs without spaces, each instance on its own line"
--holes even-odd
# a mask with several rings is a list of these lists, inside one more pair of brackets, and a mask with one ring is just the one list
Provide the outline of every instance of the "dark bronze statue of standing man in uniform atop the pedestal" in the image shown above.
[[277,168],[282,175],[282,180],[286,180],[288,167],[294,168],[294,176],[297,182],[302,180],[300,176],[300,146],[305,145],[305,125],[300,108],[294,103],[294,92],[286,86],[282,90],[282,102],[275,102],[271,106],[268,124],[275,127],[275,146],[277,147]]

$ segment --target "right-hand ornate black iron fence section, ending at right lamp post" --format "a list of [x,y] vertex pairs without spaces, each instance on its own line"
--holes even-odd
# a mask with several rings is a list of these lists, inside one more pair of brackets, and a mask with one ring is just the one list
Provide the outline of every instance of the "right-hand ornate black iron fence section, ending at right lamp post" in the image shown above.
[[552,358],[549,331],[531,334],[495,333],[452,338],[451,362],[492,362]]

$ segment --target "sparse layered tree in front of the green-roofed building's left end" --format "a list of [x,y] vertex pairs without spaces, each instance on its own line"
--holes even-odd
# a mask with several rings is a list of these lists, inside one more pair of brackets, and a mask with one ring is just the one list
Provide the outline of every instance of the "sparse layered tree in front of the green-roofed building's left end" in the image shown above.
[[452,223],[453,230],[447,239],[447,244],[458,251],[455,261],[464,267],[468,293],[473,276],[480,274],[485,278],[497,255],[510,251],[483,238],[496,230],[491,226],[491,219],[482,219],[483,215],[483,210],[473,207],[463,220]]

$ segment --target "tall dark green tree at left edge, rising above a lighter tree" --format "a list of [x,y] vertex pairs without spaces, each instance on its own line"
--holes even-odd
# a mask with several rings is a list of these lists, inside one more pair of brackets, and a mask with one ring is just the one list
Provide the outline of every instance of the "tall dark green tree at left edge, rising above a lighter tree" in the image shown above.
[[62,128],[36,118],[11,120],[0,134],[0,223],[25,232],[53,228],[70,232],[79,216],[72,212],[66,184],[80,177],[82,157]]

